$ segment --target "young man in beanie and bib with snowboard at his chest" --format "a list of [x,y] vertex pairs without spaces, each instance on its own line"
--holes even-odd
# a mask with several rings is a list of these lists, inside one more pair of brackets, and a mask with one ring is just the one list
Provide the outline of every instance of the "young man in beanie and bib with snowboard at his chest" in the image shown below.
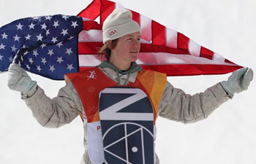
[[9,68],[8,86],[21,92],[40,125],[59,128],[80,114],[86,149],[81,163],[159,163],[154,153],[157,116],[184,123],[203,120],[234,93],[246,90],[253,77],[252,69],[244,68],[203,93],[185,94],[165,74],[135,63],[140,26],[127,9],[115,9],[105,20],[103,42],[108,60],[67,74],[67,85],[56,98],[48,98],[17,64]]

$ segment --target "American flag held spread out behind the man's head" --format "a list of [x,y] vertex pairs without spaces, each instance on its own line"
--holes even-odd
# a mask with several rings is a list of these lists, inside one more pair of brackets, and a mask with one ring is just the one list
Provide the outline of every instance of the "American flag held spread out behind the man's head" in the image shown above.
[[[14,62],[26,71],[64,79],[64,74],[83,71],[105,60],[102,24],[121,4],[94,0],[78,16],[53,15],[16,20],[0,28],[0,71]],[[242,66],[208,50],[189,37],[132,11],[141,28],[137,63],[167,76],[226,74]],[[97,22],[97,20],[99,20]]]

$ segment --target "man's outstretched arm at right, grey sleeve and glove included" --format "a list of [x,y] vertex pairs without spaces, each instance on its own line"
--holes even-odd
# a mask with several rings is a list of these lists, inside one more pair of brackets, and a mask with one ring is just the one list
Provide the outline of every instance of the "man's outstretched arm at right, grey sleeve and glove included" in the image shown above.
[[186,94],[167,82],[159,105],[159,116],[183,123],[203,120],[225,101],[233,98],[235,93],[247,90],[252,78],[252,69],[239,69],[227,81],[219,82],[195,95]]

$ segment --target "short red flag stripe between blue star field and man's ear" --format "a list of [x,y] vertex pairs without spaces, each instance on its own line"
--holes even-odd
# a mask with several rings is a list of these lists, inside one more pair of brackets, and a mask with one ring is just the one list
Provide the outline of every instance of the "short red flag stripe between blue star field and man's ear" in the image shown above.
[[78,42],[78,54],[99,54],[102,42]]

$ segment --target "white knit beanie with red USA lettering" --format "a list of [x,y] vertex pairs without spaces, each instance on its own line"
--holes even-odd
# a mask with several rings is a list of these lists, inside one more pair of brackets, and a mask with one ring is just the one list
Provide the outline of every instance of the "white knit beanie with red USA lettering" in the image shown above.
[[140,26],[132,20],[132,12],[128,9],[114,9],[105,19],[103,26],[103,43],[118,39],[121,36],[140,32]]

